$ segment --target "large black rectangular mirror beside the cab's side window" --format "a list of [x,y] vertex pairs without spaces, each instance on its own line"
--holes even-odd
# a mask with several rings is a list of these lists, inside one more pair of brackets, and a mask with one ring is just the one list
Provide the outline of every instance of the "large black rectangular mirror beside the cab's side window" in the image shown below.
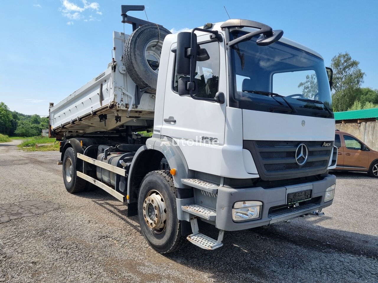
[[[194,48],[191,48],[191,32],[177,34],[176,72],[178,75],[191,75],[195,72],[197,60],[197,35],[194,35]],[[192,61],[192,68],[191,68]]]

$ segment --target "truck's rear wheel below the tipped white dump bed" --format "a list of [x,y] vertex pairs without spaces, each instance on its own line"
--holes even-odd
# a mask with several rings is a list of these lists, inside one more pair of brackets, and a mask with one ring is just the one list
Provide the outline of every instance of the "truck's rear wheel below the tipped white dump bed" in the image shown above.
[[67,192],[75,194],[85,191],[87,181],[77,177],[76,174],[76,157],[73,148],[67,148],[63,157],[63,181]]

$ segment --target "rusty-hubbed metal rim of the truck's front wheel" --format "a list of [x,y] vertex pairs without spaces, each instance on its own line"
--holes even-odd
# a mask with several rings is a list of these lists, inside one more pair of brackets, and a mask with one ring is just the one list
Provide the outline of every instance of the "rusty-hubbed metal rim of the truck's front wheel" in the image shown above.
[[143,201],[143,217],[147,226],[156,234],[164,231],[167,222],[167,209],[161,194],[152,190]]

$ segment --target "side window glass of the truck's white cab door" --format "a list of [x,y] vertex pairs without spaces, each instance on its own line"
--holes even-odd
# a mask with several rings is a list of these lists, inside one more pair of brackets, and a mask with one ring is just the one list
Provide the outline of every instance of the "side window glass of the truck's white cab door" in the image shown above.
[[[209,54],[206,61],[197,61],[197,67],[194,79],[197,80],[197,94],[195,97],[215,98],[219,85],[219,43],[208,42],[200,45],[205,48]],[[178,92],[178,79],[183,76],[177,75],[176,68],[173,78],[173,91]]]

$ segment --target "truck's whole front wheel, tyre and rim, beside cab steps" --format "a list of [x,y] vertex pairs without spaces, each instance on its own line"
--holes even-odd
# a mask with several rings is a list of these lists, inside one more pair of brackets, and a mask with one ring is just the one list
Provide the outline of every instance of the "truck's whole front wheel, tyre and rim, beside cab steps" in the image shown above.
[[142,234],[161,254],[178,251],[187,243],[177,218],[176,194],[172,175],[166,170],[148,173],[139,190],[138,218]]

